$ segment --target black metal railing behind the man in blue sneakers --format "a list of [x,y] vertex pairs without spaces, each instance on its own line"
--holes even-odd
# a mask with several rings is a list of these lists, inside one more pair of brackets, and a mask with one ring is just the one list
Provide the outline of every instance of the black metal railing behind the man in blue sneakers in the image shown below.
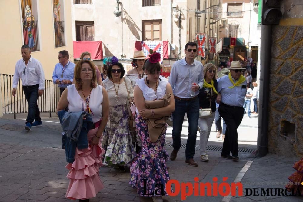
[[[2,90],[2,110],[3,114],[28,113],[28,102],[22,89],[22,81],[19,80],[16,97],[12,96],[13,75],[0,74]],[[60,97],[60,90],[52,80],[45,80],[45,90],[43,95],[38,98],[40,112],[48,112],[52,117],[52,112],[56,112]]]

